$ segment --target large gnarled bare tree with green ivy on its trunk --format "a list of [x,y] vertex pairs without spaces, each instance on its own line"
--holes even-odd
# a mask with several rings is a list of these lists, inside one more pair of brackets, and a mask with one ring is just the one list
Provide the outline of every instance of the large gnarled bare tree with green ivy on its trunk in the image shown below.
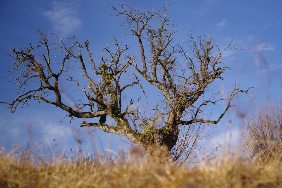
[[[181,138],[186,140],[185,144],[190,149],[193,148],[193,143],[202,132],[202,127],[199,126],[196,131],[197,127],[193,124],[217,124],[229,107],[235,106],[231,105],[234,96],[247,94],[249,89],[241,90],[235,84],[228,99],[218,96],[220,91],[210,90],[211,83],[215,79],[223,79],[222,74],[229,69],[222,62],[222,53],[226,49],[235,49],[233,43],[220,50],[210,35],[202,33],[195,39],[192,32],[190,42],[183,45],[174,43],[173,36],[177,31],[174,30],[172,19],[167,17],[168,6],[159,10],[139,10],[126,4],[119,4],[118,8],[112,6],[116,16],[124,19],[122,26],[128,28],[125,34],[137,39],[140,60],[129,52],[129,47],[114,38],[113,47],[106,45],[100,56],[101,63],[97,63],[93,59],[93,52],[90,52],[89,39],[80,43],[76,37],[62,39],[38,29],[35,31],[41,37],[38,44],[33,46],[30,43],[28,47],[13,49],[9,53],[15,59],[9,73],[17,75],[14,83],[19,85],[19,91],[18,97],[12,102],[2,103],[8,104],[7,109],[14,112],[20,103],[24,105],[30,100],[38,100],[39,104],[44,101],[68,112],[71,118],[85,119],[80,127],[93,126],[108,133],[126,136],[145,149],[155,144],[165,145],[171,151],[179,140],[179,126],[182,125],[187,128]],[[51,43],[52,38],[57,41]],[[36,50],[41,48],[45,48],[46,52],[40,61],[36,59]],[[188,56],[188,52],[192,56]],[[56,53],[56,58],[62,58],[56,62],[56,66],[51,53]],[[74,62],[78,62],[78,65],[75,66]],[[78,69],[84,80],[69,74]],[[63,78],[63,74],[69,76]],[[130,79],[125,81],[125,77]],[[39,86],[26,91],[26,84],[35,78],[40,80]],[[68,106],[61,99],[59,86],[63,80],[74,82],[83,93],[84,98],[78,100],[75,106]],[[163,95],[161,103],[150,110],[151,116],[140,110],[140,96],[132,96],[137,101],[135,109],[132,108],[133,99],[127,101],[126,105],[122,101],[123,93],[129,87],[140,87],[145,95],[140,80],[147,81]],[[84,81],[88,82],[87,86],[83,84]],[[55,95],[53,100],[48,97],[49,93]],[[210,97],[204,97],[204,93],[210,94]],[[228,101],[222,114],[216,120],[205,119],[204,107],[221,100]],[[98,122],[87,121],[95,117],[100,117]],[[106,123],[108,117],[115,121],[115,126]],[[172,153],[175,159],[191,154],[182,151]]]

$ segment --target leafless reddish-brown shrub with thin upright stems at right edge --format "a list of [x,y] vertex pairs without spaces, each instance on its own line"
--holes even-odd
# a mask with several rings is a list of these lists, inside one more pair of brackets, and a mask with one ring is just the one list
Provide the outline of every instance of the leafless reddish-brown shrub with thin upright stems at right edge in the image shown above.
[[245,149],[252,159],[269,162],[282,159],[282,108],[275,102],[272,106],[260,106],[255,114],[244,120]]

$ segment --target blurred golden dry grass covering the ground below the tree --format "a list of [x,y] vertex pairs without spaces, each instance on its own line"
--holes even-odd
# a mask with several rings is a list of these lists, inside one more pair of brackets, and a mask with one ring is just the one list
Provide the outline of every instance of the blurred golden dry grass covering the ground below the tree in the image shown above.
[[[0,153],[0,187],[282,187],[280,160],[268,163],[221,155],[189,168],[164,163],[138,150],[119,157],[99,158],[35,148]],[[55,157],[56,156],[56,157]],[[160,156],[160,155],[157,155]]]

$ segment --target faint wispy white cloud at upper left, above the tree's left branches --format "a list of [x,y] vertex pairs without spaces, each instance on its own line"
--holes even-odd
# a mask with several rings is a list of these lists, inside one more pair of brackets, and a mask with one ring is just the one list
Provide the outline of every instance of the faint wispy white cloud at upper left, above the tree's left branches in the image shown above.
[[55,30],[62,35],[69,35],[82,24],[77,17],[77,7],[74,3],[59,3],[53,1],[53,9],[50,11],[43,11],[43,15],[48,18],[53,24]]

